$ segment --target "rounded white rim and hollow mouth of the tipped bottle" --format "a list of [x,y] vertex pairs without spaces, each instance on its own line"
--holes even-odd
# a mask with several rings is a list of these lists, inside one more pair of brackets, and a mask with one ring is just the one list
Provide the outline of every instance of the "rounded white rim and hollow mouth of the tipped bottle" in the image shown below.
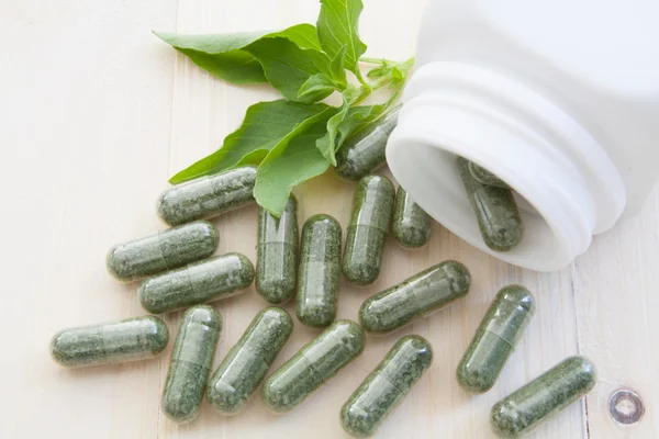
[[[387,160],[399,183],[443,226],[499,259],[550,271],[589,247],[594,222],[587,189],[552,153],[541,139],[504,121],[434,102],[403,109]],[[494,251],[485,245],[457,171],[457,156],[514,190],[525,233],[513,250]]]

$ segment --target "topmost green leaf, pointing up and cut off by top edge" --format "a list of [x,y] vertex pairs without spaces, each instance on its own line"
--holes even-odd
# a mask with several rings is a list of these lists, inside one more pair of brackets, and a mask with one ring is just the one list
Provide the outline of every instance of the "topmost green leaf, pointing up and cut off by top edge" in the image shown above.
[[359,57],[366,52],[366,44],[359,40],[359,14],[361,0],[321,0],[321,13],[316,23],[319,40],[323,49],[335,57],[347,47],[345,66],[361,77]]

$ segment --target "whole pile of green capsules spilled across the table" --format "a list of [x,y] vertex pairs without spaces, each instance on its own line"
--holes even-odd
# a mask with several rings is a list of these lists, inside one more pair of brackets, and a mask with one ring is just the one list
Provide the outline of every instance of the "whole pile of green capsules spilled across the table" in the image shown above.
[[[359,324],[336,319],[342,272],[354,284],[371,284],[380,274],[390,230],[407,248],[422,247],[431,237],[429,216],[403,189],[396,192],[389,179],[371,175],[384,164],[384,145],[395,117],[395,113],[388,115],[339,154],[337,173],[358,180],[343,257],[342,227],[330,215],[310,217],[300,238],[293,196],[280,218],[259,211],[256,270],[244,255],[211,257],[220,236],[203,219],[254,202],[253,167],[166,191],[158,214],[175,227],[110,250],[108,269],[118,279],[146,278],[138,296],[147,312],[187,308],[161,395],[161,409],[169,418],[194,419],[204,394],[219,413],[236,414],[261,383],[264,404],[275,413],[287,413],[357,358],[367,334],[389,334],[467,294],[471,274],[462,263],[449,260],[367,299]],[[458,160],[458,166],[465,165]],[[256,291],[266,302],[278,305],[294,296],[298,320],[323,331],[266,379],[293,330],[293,319],[280,307],[265,307],[211,375],[222,317],[204,303],[238,294],[255,279]],[[457,368],[457,380],[467,392],[492,387],[534,312],[533,296],[521,285],[505,286],[496,294]],[[51,351],[64,367],[115,364],[156,357],[168,341],[163,320],[144,316],[64,329],[53,338]],[[356,437],[372,435],[432,360],[431,345],[423,337],[399,339],[343,406],[344,429]],[[499,402],[491,413],[493,429],[502,437],[527,432],[588,393],[594,382],[589,360],[568,358]]]

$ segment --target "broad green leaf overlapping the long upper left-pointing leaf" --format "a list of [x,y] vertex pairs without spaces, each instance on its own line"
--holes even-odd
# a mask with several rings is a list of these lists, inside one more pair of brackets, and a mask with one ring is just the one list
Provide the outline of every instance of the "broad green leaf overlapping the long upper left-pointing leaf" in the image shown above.
[[263,38],[246,47],[264,67],[268,82],[290,100],[298,99],[313,76],[332,75],[332,60],[323,52],[303,49],[287,38]]

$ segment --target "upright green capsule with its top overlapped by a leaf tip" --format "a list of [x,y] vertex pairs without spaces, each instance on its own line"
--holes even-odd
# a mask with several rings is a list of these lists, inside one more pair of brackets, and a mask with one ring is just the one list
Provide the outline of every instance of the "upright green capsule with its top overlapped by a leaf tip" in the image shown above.
[[289,198],[280,218],[259,207],[256,292],[268,303],[288,302],[295,293],[299,238],[294,196]]

